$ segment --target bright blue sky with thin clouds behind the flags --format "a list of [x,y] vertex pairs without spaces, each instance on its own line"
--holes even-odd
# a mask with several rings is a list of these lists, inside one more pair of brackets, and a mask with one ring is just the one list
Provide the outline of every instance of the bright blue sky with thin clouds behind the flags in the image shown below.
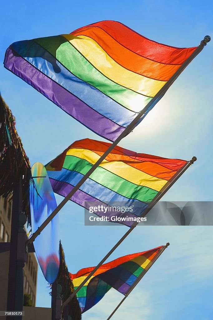
[[[90,132],[3,67],[14,41],[70,33],[100,20],[117,20],[157,42],[196,46],[213,36],[211,1],[10,1],[1,3],[0,91],[16,117],[16,128],[31,165],[46,164]],[[212,201],[212,48],[210,42],[164,98],[120,146],[137,152],[189,160],[197,156],[164,196],[168,201]],[[62,198],[57,196],[59,203]],[[96,265],[127,227],[86,227],[84,210],[69,202],[61,210],[60,237],[68,268]],[[212,227],[138,227],[109,260],[170,246],[120,307],[114,319],[212,319]],[[84,320],[106,319],[123,296],[111,289]],[[36,305],[50,307],[47,282],[38,273]]]

